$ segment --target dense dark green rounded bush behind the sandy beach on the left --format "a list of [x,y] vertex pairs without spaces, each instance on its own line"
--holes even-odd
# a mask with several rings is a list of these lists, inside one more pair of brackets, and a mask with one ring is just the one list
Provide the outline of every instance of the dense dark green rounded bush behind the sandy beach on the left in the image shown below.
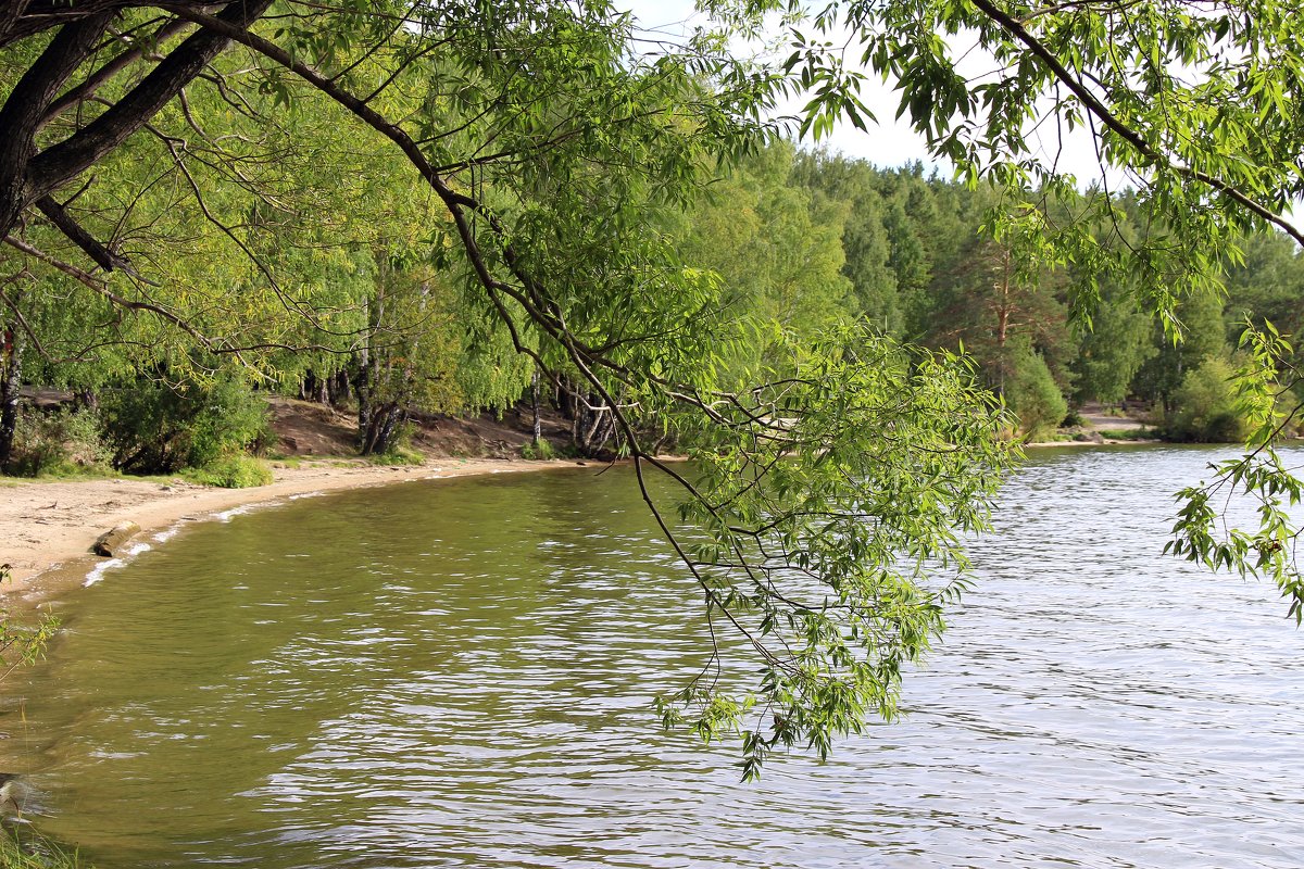
[[236,378],[106,391],[100,403],[113,466],[140,474],[207,468],[271,442],[267,404]]

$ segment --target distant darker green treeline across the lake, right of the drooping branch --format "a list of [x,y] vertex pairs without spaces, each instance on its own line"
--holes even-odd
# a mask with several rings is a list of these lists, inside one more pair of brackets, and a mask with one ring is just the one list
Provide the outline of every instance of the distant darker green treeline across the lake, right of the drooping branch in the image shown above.
[[[919,165],[882,169],[822,154],[789,159],[788,186],[841,240],[846,284],[828,298],[893,337],[962,347],[1025,433],[1054,427],[1089,401],[1133,401],[1151,409],[1174,439],[1237,440],[1241,422],[1227,378],[1247,321],[1294,334],[1304,319],[1304,262],[1284,236],[1243,238],[1243,257],[1223,263],[1226,292],[1176,300],[1176,322],[1166,330],[1140,301],[1148,294],[1136,285],[1144,275],[1102,276],[1091,263],[1029,272],[1018,215],[1011,221],[991,188],[969,189]],[[1128,197],[1120,201],[1111,227],[1119,236],[1162,232]],[[1077,228],[1052,197],[1042,215]],[[1085,317],[1071,317],[1072,301],[1085,302]]]

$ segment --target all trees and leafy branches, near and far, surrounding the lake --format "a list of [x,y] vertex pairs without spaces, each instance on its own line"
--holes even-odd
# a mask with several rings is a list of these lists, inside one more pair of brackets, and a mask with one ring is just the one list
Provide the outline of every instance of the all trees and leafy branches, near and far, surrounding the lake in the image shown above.
[[[1300,16],[702,5],[669,39],[599,0],[4,4],[0,464],[235,486],[266,474],[263,395],[352,408],[364,453],[412,414],[552,403],[578,452],[631,460],[754,657],[750,691],[715,661],[660,701],[741,734],[748,776],[896,714],[1020,440],[1085,401],[1244,440],[1171,551],[1304,615],[1273,449],[1300,412]],[[776,16],[784,56],[738,56]],[[868,128],[870,73],[953,177],[808,147]],[[1101,176],[1034,152],[1042,126],[1089,130]],[[1257,528],[1223,533],[1228,487]]]

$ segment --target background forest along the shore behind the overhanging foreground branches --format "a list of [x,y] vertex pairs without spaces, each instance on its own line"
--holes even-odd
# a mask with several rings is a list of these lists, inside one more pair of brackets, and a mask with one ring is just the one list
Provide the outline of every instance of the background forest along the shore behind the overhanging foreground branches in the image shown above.
[[[130,150],[124,158],[151,159]],[[304,176],[282,184],[313,188]],[[402,184],[333,203],[342,224],[334,231],[343,235],[326,236],[318,224],[323,237],[312,248],[297,224],[261,227],[267,255],[292,271],[293,283],[278,279],[278,292],[296,300],[301,323],[297,335],[239,353],[215,353],[203,340],[230,317],[220,307],[160,340],[156,318],[124,318],[56,264],[23,263],[10,275],[0,380],[5,470],[190,469],[219,485],[249,485],[265,477],[254,456],[269,448],[259,393],[348,408],[363,455],[399,448],[412,414],[501,414],[539,400],[574,422],[575,455],[621,455],[619,431],[592,409],[595,396],[575,377],[516,354],[501,324],[476,315],[466,283],[439,267],[437,248],[393,238],[412,221],[412,212],[390,211],[404,192],[420,198]],[[368,202],[381,207],[359,214]],[[1132,205],[1119,197],[1119,221],[1138,237],[1146,227]],[[1174,340],[1133,288],[1106,283],[1082,306],[1072,298],[1082,283],[1072,268],[1029,272],[1013,245],[988,229],[1003,207],[994,186],[971,188],[918,163],[879,168],[777,141],[720,167],[657,231],[686,264],[720,281],[725,315],[748,324],[748,339],[720,360],[739,378],[773,352],[772,332],[808,340],[861,323],[896,341],[968,354],[981,383],[1013,412],[1011,438],[1048,439],[1085,403],[1131,401],[1167,439],[1244,439],[1232,383],[1245,361],[1240,336],[1266,323],[1294,334],[1304,317],[1304,266],[1290,238],[1265,231],[1240,240],[1237,255],[1219,263],[1224,289],[1176,310],[1181,336]],[[214,225],[207,232],[190,242],[211,245],[203,272],[186,274],[201,264],[197,257],[177,257],[173,285],[213,294],[249,268],[241,245]],[[318,319],[327,309],[330,328]],[[29,327],[42,337],[33,340]],[[63,409],[23,403],[23,387],[61,391]],[[666,420],[640,425],[656,431]],[[662,446],[675,448],[669,439]]]

